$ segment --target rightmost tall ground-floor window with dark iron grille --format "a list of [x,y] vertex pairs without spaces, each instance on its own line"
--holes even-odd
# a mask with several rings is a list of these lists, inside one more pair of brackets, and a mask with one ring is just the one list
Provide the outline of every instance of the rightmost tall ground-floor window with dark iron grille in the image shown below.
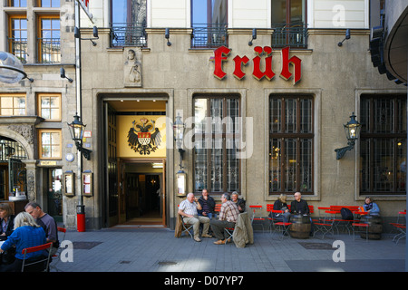
[[406,95],[361,98],[360,194],[405,195]]

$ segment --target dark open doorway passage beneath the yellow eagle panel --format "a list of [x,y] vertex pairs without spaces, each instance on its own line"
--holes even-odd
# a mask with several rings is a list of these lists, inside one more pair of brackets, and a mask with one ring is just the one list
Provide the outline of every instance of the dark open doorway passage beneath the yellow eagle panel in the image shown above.
[[160,175],[126,173],[127,225],[160,225]]

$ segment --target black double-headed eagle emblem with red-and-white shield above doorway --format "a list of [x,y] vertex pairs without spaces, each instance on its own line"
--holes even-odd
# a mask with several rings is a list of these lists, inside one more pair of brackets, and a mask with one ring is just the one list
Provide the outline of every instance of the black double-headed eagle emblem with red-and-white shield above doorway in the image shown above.
[[140,122],[132,121],[131,129],[128,132],[128,143],[132,150],[141,155],[149,155],[160,146],[161,135],[156,128],[155,121],[141,119]]

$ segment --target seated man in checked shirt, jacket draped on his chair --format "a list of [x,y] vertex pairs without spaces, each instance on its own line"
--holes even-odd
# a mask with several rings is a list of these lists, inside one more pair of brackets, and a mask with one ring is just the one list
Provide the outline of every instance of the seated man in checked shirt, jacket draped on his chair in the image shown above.
[[235,203],[230,200],[228,193],[221,196],[221,209],[219,210],[219,219],[211,220],[210,225],[212,232],[218,241],[214,242],[216,245],[223,245],[226,243],[225,227],[235,227],[237,223],[239,210]]

